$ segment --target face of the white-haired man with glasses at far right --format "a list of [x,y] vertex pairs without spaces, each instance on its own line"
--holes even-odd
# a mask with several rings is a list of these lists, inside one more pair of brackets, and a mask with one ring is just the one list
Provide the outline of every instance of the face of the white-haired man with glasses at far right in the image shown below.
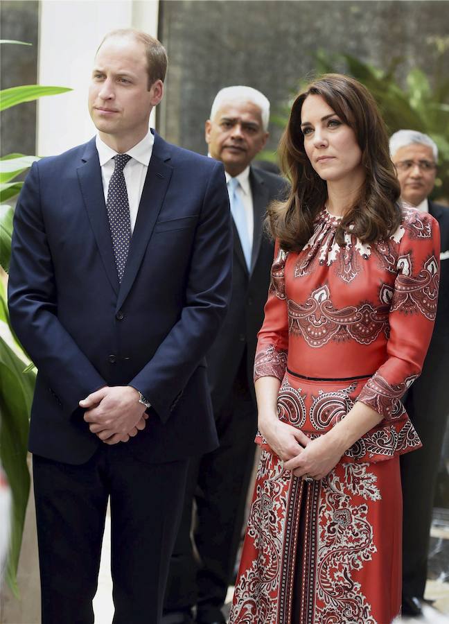
[[400,196],[412,206],[419,206],[432,191],[437,175],[432,148],[412,143],[399,148],[393,162],[400,184]]

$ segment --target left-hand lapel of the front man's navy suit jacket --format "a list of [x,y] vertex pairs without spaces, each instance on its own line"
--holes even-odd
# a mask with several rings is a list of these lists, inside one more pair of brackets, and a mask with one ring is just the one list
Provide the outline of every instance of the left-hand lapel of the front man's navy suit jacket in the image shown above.
[[81,187],[82,198],[85,202],[87,215],[105,266],[107,278],[112,288],[118,293],[118,275],[112,249],[111,232],[107,220],[105,194],[101,180],[101,168],[95,139],[91,139],[82,155],[82,164],[77,168],[78,181]]

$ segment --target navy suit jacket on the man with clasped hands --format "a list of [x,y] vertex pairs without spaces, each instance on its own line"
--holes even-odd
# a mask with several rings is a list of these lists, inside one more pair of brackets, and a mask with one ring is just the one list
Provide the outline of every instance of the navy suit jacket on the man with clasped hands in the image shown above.
[[204,354],[227,310],[229,198],[221,163],[155,136],[118,284],[95,141],[33,164],[15,211],[12,326],[39,370],[30,451],[79,464],[100,441],[78,401],[130,384],[151,402],[127,442],[142,460],[217,444]]

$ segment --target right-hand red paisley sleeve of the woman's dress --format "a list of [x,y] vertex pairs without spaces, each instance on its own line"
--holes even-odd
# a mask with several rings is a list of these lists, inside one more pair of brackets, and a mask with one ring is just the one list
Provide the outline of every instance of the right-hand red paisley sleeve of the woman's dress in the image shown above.
[[387,360],[367,381],[359,401],[387,421],[400,418],[400,399],[421,373],[437,313],[439,225],[413,209],[394,235],[399,239],[394,287],[384,284],[380,297],[391,301]]

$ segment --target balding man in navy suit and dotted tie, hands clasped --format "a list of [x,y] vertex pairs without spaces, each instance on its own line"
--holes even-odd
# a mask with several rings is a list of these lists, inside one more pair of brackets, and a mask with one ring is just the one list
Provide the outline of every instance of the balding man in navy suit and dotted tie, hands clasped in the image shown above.
[[227,311],[222,164],[148,131],[166,52],[113,31],[98,135],[35,163],[15,214],[10,315],[31,414],[43,624],[94,621],[107,501],[116,624],[157,624],[188,458],[217,445],[204,354]]

